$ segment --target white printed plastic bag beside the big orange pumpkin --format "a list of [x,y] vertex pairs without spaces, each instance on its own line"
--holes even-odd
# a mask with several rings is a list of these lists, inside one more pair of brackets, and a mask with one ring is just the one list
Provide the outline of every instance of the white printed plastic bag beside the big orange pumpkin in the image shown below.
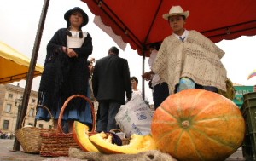
[[124,106],[121,106],[115,120],[127,137],[132,134],[148,135],[151,133],[151,122],[154,112],[141,95],[132,96]]

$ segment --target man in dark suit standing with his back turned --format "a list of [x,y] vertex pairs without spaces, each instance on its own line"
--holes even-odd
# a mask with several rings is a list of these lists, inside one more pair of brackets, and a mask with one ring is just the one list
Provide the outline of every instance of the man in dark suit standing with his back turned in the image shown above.
[[111,47],[108,56],[96,61],[92,88],[99,102],[96,131],[116,129],[115,116],[125,104],[125,93],[131,99],[131,80],[128,61],[119,57],[119,49]]

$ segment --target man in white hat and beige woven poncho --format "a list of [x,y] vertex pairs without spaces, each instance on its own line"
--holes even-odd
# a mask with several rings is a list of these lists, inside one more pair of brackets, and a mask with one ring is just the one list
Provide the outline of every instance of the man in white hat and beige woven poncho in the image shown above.
[[161,44],[153,72],[168,84],[170,94],[183,89],[226,91],[226,70],[220,61],[224,51],[200,32],[186,30],[188,17],[189,11],[180,6],[172,6],[163,14],[173,33]]

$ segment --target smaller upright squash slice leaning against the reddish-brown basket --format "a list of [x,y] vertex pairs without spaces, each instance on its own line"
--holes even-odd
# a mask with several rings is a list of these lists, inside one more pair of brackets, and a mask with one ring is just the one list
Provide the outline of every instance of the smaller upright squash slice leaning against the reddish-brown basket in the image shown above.
[[89,127],[78,121],[73,123],[73,138],[85,152],[99,152],[89,140]]

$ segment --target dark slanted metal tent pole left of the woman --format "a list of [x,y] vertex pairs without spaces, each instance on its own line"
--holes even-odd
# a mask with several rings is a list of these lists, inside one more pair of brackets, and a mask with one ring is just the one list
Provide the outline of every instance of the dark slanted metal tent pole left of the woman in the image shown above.
[[[49,6],[49,0],[44,0],[44,6],[42,9],[42,13],[41,13],[41,17],[40,17],[39,25],[38,25],[38,32],[37,32],[34,47],[32,50],[32,58],[30,61],[29,69],[28,69],[28,75],[26,77],[26,86],[25,86],[25,90],[23,93],[22,106],[20,109],[20,114],[17,117],[18,123],[16,124],[15,130],[21,128],[22,120],[26,116],[26,110],[27,110],[27,106],[28,106],[29,95],[31,93],[32,80],[33,80],[33,75],[34,75],[34,71],[35,71],[35,66],[36,66],[37,60],[38,60],[38,50],[39,50],[39,46],[40,46],[40,42],[41,42],[41,38],[42,38],[42,33],[44,30],[44,22],[45,22],[45,17],[47,14],[48,6]],[[20,151],[20,142],[16,139],[16,137],[15,137],[13,151]]]

